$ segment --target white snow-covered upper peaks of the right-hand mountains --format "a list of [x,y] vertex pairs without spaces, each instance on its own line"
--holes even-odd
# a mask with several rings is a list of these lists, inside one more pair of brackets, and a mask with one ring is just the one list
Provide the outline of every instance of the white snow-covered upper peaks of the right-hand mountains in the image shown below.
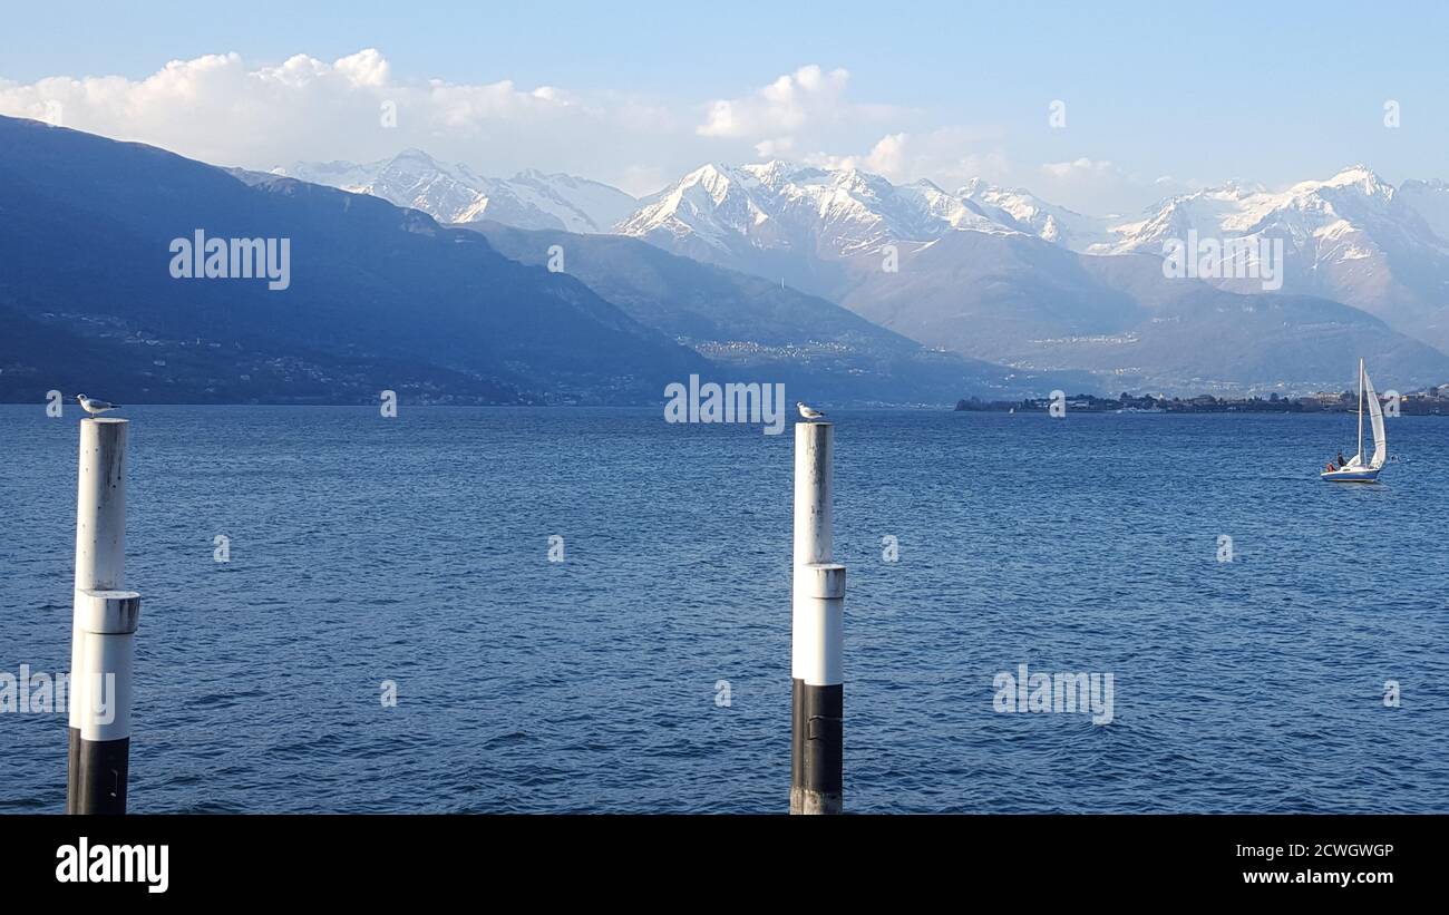
[[1229,181],[1169,197],[1136,219],[1087,216],[981,178],[946,193],[930,181],[894,185],[855,168],[788,161],[703,165],[643,203],[617,232],[706,252],[745,245],[851,258],[975,230],[1035,235],[1094,255],[1161,253],[1188,233],[1281,237],[1290,255],[1314,262],[1362,261],[1375,248],[1449,255],[1449,187],[1410,182],[1400,193],[1366,165],[1282,191]]

